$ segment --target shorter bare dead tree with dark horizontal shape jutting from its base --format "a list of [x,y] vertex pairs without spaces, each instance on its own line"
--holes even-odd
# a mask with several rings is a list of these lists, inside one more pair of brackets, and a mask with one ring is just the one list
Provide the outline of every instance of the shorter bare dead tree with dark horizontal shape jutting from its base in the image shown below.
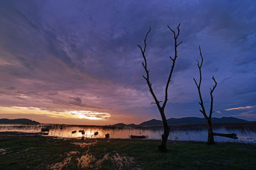
[[196,84],[196,87],[197,87],[197,90],[198,90],[198,94],[199,94],[199,98],[200,98],[200,106],[202,108],[201,113],[204,115],[205,119],[207,120],[207,128],[208,128],[208,138],[207,138],[207,143],[209,145],[212,145],[214,144],[214,136],[223,136],[223,137],[227,137],[227,138],[234,138],[234,139],[237,139],[236,137],[236,134],[220,134],[220,133],[214,133],[212,132],[212,113],[214,111],[212,111],[212,108],[213,108],[213,97],[212,96],[212,93],[214,92],[216,86],[217,86],[217,81],[215,80],[214,76],[212,76],[212,80],[214,81],[214,86],[211,88],[211,91],[210,91],[210,95],[211,95],[211,106],[210,106],[210,112],[209,112],[209,116],[207,116],[207,113],[205,111],[205,107],[204,107],[204,101],[202,99],[202,94],[201,94],[201,83],[202,83],[202,65],[203,65],[203,62],[204,62],[204,59],[203,59],[203,56],[202,56],[202,51],[201,51],[201,48],[199,46],[199,50],[200,50],[200,56],[201,56],[201,62],[199,63],[198,60],[197,61],[197,66],[198,66],[198,69],[199,69],[199,73],[200,73],[200,79],[199,79],[199,83],[195,80],[195,78],[193,78],[193,80],[195,81],[195,84]]

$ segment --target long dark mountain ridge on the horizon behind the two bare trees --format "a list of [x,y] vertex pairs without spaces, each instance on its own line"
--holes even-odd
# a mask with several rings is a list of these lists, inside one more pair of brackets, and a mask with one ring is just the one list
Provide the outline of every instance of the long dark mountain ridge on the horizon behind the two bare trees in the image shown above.
[[[235,117],[221,117],[221,118],[212,118],[212,124],[230,124],[230,123],[245,123],[247,120]],[[167,120],[168,125],[187,125],[187,124],[207,124],[205,118],[198,117],[184,117],[184,118],[169,118]],[[163,125],[161,120],[148,120],[142,122],[139,126],[146,125]]]

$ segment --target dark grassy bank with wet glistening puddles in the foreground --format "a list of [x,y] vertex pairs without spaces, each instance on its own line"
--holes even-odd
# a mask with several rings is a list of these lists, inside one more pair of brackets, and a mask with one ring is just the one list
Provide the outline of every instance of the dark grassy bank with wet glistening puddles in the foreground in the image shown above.
[[256,145],[1,136],[0,169],[255,169]]

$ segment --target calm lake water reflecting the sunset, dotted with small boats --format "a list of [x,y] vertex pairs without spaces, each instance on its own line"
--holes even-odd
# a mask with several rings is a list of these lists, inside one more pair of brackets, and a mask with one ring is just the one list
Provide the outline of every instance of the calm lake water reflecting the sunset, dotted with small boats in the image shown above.
[[[109,138],[127,139],[129,135],[145,135],[148,136],[148,139],[161,139],[161,134],[163,134],[163,127],[0,124],[0,132],[40,133],[42,128],[49,129],[47,136],[61,138],[81,138],[82,136],[84,136],[84,138],[105,138],[105,134],[109,134]],[[217,142],[256,143],[256,124],[214,125],[213,129],[214,132],[217,133],[237,134],[238,139],[214,136]],[[83,131],[84,134],[82,134]],[[97,135],[95,135],[95,132],[98,132],[96,133]],[[175,125],[170,127],[168,139],[180,141],[207,141],[207,127],[206,125]]]

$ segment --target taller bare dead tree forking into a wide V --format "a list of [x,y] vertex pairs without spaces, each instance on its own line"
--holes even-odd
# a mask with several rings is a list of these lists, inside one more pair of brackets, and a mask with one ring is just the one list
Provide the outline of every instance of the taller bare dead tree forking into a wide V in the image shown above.
[[171,78],[172,78],[172,73],[173,73],[173,69],[174,69],[174,66],[175,66],[175,61],[177,59],[177,47],[182,43],[182,41],[180,43],[177,43],[177,39],[179,37],[179,34],[180,34],[180,24],[178,25],[177,29],[178,29],[178,32],[176,34],[175,31],[173,31],[173,29],[171,27],[169,27],[169,25],[167,25],[168,28],[170,29],[170,31],[173,32],[173,36],[174,36],[174,50],[175,50],[175,56],[174,57],[171,57],[170,56],[170,59],[172,60],[172,67],[170,69],[170,74],[168,76],[168,80],[166,82],[166,86],[165,86],[165,96],[164,96],[164,102],[161,106],[161,102],[162,101],[159,101],[152,89],[152,83],[150,82],[150,78],[149,78],[149,70],[148,70],[148,67],[147,67],[147,59],[146,59],[146,56],[145,56],[145,51],[146,51],[146,47],[147,47],[147,36],[149,34],[149,32],[151,31],[151,28],[149,28],[146,36],[145,36],[145,39],[144,39],[144,47],[141,47],[141,45],[138,45],[140,50],[141,50],[141,54],[143,56],[143,59],[144,59],[144,62],[142,62],[142,66],[144,67],[145,69],[145,72],[146,72],[146,76],[143,76],[143,78],[145,78],[146,82],[147,82],[147,85],[148,85],[148,88],[149,88],[149,91],[150,93],[152,94],[154,100],[155,100],[155,103],[157,105],[157,108],[159,110],[159,113],[161,115],[161,118],[163,120],[163,125],[164,125],[164,133],[162,135],[162,138],[161,138],[161,144],[159,145],[159,150],[163,151],[163,152],[166,152],[166,141],[168,139],[168,136],[169,136],[169,132],[170,132],[170,128],[168,127],[168,123],[167,123],[167,120],[166,120],[166,117],[165,117],[165,114],[164,114],[164,108],[166,106],[166,103],[168,101],[168,87],[169,87],[169,84],[170,84],[170,81],[171,81]]

